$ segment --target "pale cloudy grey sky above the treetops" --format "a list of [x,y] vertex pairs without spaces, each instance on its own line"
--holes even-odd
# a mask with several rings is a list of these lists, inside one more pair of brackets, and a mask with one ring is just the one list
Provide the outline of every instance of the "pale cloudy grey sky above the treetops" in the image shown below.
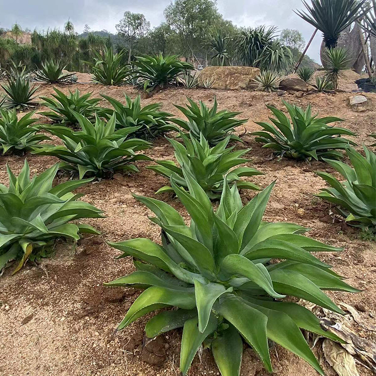
[[[10,28],[15,22],[22,28],[39,31],[63,28],[68,18],[81,33],[85,24],[91,30],[116,32],[115,24],[125,11],[143,13],[151,26],[163,20],[163,10],[170,0],[0,0],[0,27]],[[218,0],[225,19],[238,26],[276,25],[282,29],[298,29],[309,40],[313,27],[292,10],[302,9],[301,0]],[[321,37],[316,35],[308,55],[319,61]]]

